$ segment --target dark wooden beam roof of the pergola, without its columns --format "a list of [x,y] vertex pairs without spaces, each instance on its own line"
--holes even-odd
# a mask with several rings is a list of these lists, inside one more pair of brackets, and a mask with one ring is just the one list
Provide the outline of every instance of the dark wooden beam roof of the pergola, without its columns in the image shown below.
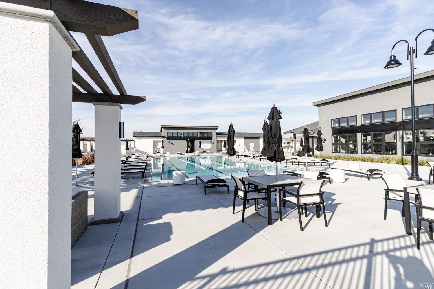
[[[110,90],[89,57],[78,45],[79,50],[72,51],[72,58],[102,93],[97,92],[75,69],[72,69],[72,81],[76,84],[72,85],[72,102],[116,102],[135,105],[146,100],[145,96],[128,95],[101,37],[138,29],[137,10],[85,0],[5,0],[4,2],[52,10],[67,30],[85,33],[118,94]],[[71,38],[74,39],[72,35]]]

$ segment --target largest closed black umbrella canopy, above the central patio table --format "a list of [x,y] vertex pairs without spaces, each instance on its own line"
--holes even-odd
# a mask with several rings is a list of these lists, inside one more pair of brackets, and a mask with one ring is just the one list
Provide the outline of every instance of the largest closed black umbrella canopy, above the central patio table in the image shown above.
[[280,115],[279,110],[273,104],[270,113],[268,114],[268,120],[270,121],[270,134],[269,145],[267,151],[267,160],[281,162],[285,160],[285,154],[283,154],[282,147],[282,131],[280,128]]

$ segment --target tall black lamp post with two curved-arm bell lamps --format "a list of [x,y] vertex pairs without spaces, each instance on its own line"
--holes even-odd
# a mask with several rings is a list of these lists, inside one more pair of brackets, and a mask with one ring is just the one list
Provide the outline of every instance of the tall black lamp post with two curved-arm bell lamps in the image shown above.
[[[419,154],[416,148],[416,113],[415,113],[415,105],[414,105],[414,58],[418,57],[418,37],[425,31],[431,30],[434,32],[434,29],[428,28],[421,31],[418,36],[414,39],[414,46],[409,47],[408,41],[405,39],[399,40],[392,46],[392,53],[389,58],[389,61],[386,63],[384,68],[394,68],[401,66],[402,63],[396,59],[396,56],[393,54],[393,49],[400,42],[405,42],[407,44],[407,60],[410,60],[410,90],[411,90],[411,131],[412,131],[412,152],[411,152],[411,176],[408,177],[409,180],[422,181],[422,178],[419,177]],[[434,40],[431,42],[431,46],[428,47],[427,51],[424,55],[433,55],[434,54]]]

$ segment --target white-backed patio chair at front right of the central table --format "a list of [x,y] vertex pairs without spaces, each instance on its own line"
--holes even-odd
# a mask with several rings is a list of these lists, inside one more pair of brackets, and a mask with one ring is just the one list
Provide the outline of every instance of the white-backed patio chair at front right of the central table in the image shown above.
[[[325,180],[316,180],[316,181],[307,181],[301,182],[296,193],[292,190],[282,190],[285,193],[291,195],[291,197],[282,197],[279,202],[289,202],[295,204],[297,206],[298,214],[299,214],[299,223],[300,230],[303,230],[303,223],[301,220],[302,207],[304,207],[304,215],[307,217],[307,206],[316,206],[316,217],[319,218],[319,214],[321,212],[322,206],[322,214],[324,215],[324,223],[325,227],[329,227],[327,225],[327,217],[325,216],[325,204],[324,204],[324,192],[322,191],[322,185]],[[296,201],[294,202],[294,197]],[[279,212],[280,220],[282,220],[282,210]]]

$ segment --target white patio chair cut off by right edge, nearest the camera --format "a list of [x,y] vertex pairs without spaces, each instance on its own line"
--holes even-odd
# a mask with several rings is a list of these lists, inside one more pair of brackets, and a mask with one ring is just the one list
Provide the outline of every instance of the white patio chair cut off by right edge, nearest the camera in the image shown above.
[[421,221],[429,223],[429,237],[433,240],[433,223],[434,223],[434,190],[417,187],[419,201],[414,203],[416,207],[416,224],[418,226],[417,245],[421,250]]

